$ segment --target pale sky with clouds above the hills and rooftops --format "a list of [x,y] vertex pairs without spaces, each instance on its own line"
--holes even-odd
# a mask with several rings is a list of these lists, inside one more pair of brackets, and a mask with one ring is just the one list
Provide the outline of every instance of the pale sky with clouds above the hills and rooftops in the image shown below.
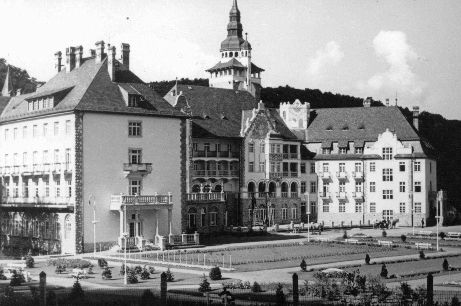
[[[54,53],[130,44],[145,82],[207,78],[232,0],[2,0],[0,58],[39,81]],[[461,119],[461,1],[238,0],[263,87],[319,88]],[[291,101],[293,102],[293,101]],[[301,101],[304,102],[304,101]],[[307,101],[308,102],[308,101]]]

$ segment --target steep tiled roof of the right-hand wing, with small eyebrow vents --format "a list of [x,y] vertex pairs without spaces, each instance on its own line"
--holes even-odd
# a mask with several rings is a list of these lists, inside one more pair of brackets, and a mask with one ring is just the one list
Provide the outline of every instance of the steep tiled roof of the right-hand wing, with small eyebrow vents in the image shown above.
[[386,129],[399,140],[420,139],[398,107],[389,106],[313,109],[307,141],[376,141]]

